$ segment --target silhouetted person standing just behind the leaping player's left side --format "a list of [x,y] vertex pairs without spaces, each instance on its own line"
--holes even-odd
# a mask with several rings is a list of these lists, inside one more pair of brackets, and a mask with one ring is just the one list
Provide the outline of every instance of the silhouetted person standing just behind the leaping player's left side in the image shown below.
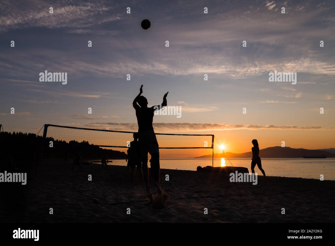
[[135,167],[137,167],[138,173],[140,175],[141,184],[143,184],[143,172],[142,172],[142,161],[140,155],[140,144],[137,141],[138,134],[133,134],[134,141],[130,142],[129,148],[127,150],[127,159],[128,165],[131,167],[130,172],[130,182],[134,183],[134,176],[135,176]]

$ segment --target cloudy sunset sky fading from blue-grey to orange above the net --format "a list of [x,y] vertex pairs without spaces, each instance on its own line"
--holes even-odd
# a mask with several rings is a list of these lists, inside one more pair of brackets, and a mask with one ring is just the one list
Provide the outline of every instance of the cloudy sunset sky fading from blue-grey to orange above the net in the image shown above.
[[[182,108],[155,115],[157,133],[215,134],[236,153],[254,138],[335,147],[334,13],[334,1],[0,0],[0,124],[136,131],[143,84],[149,106],[169,91],[168,105]],[[67,84],[40,82],[45,70],[67,72]],[[297,83],[269,82],[275,70]]]

